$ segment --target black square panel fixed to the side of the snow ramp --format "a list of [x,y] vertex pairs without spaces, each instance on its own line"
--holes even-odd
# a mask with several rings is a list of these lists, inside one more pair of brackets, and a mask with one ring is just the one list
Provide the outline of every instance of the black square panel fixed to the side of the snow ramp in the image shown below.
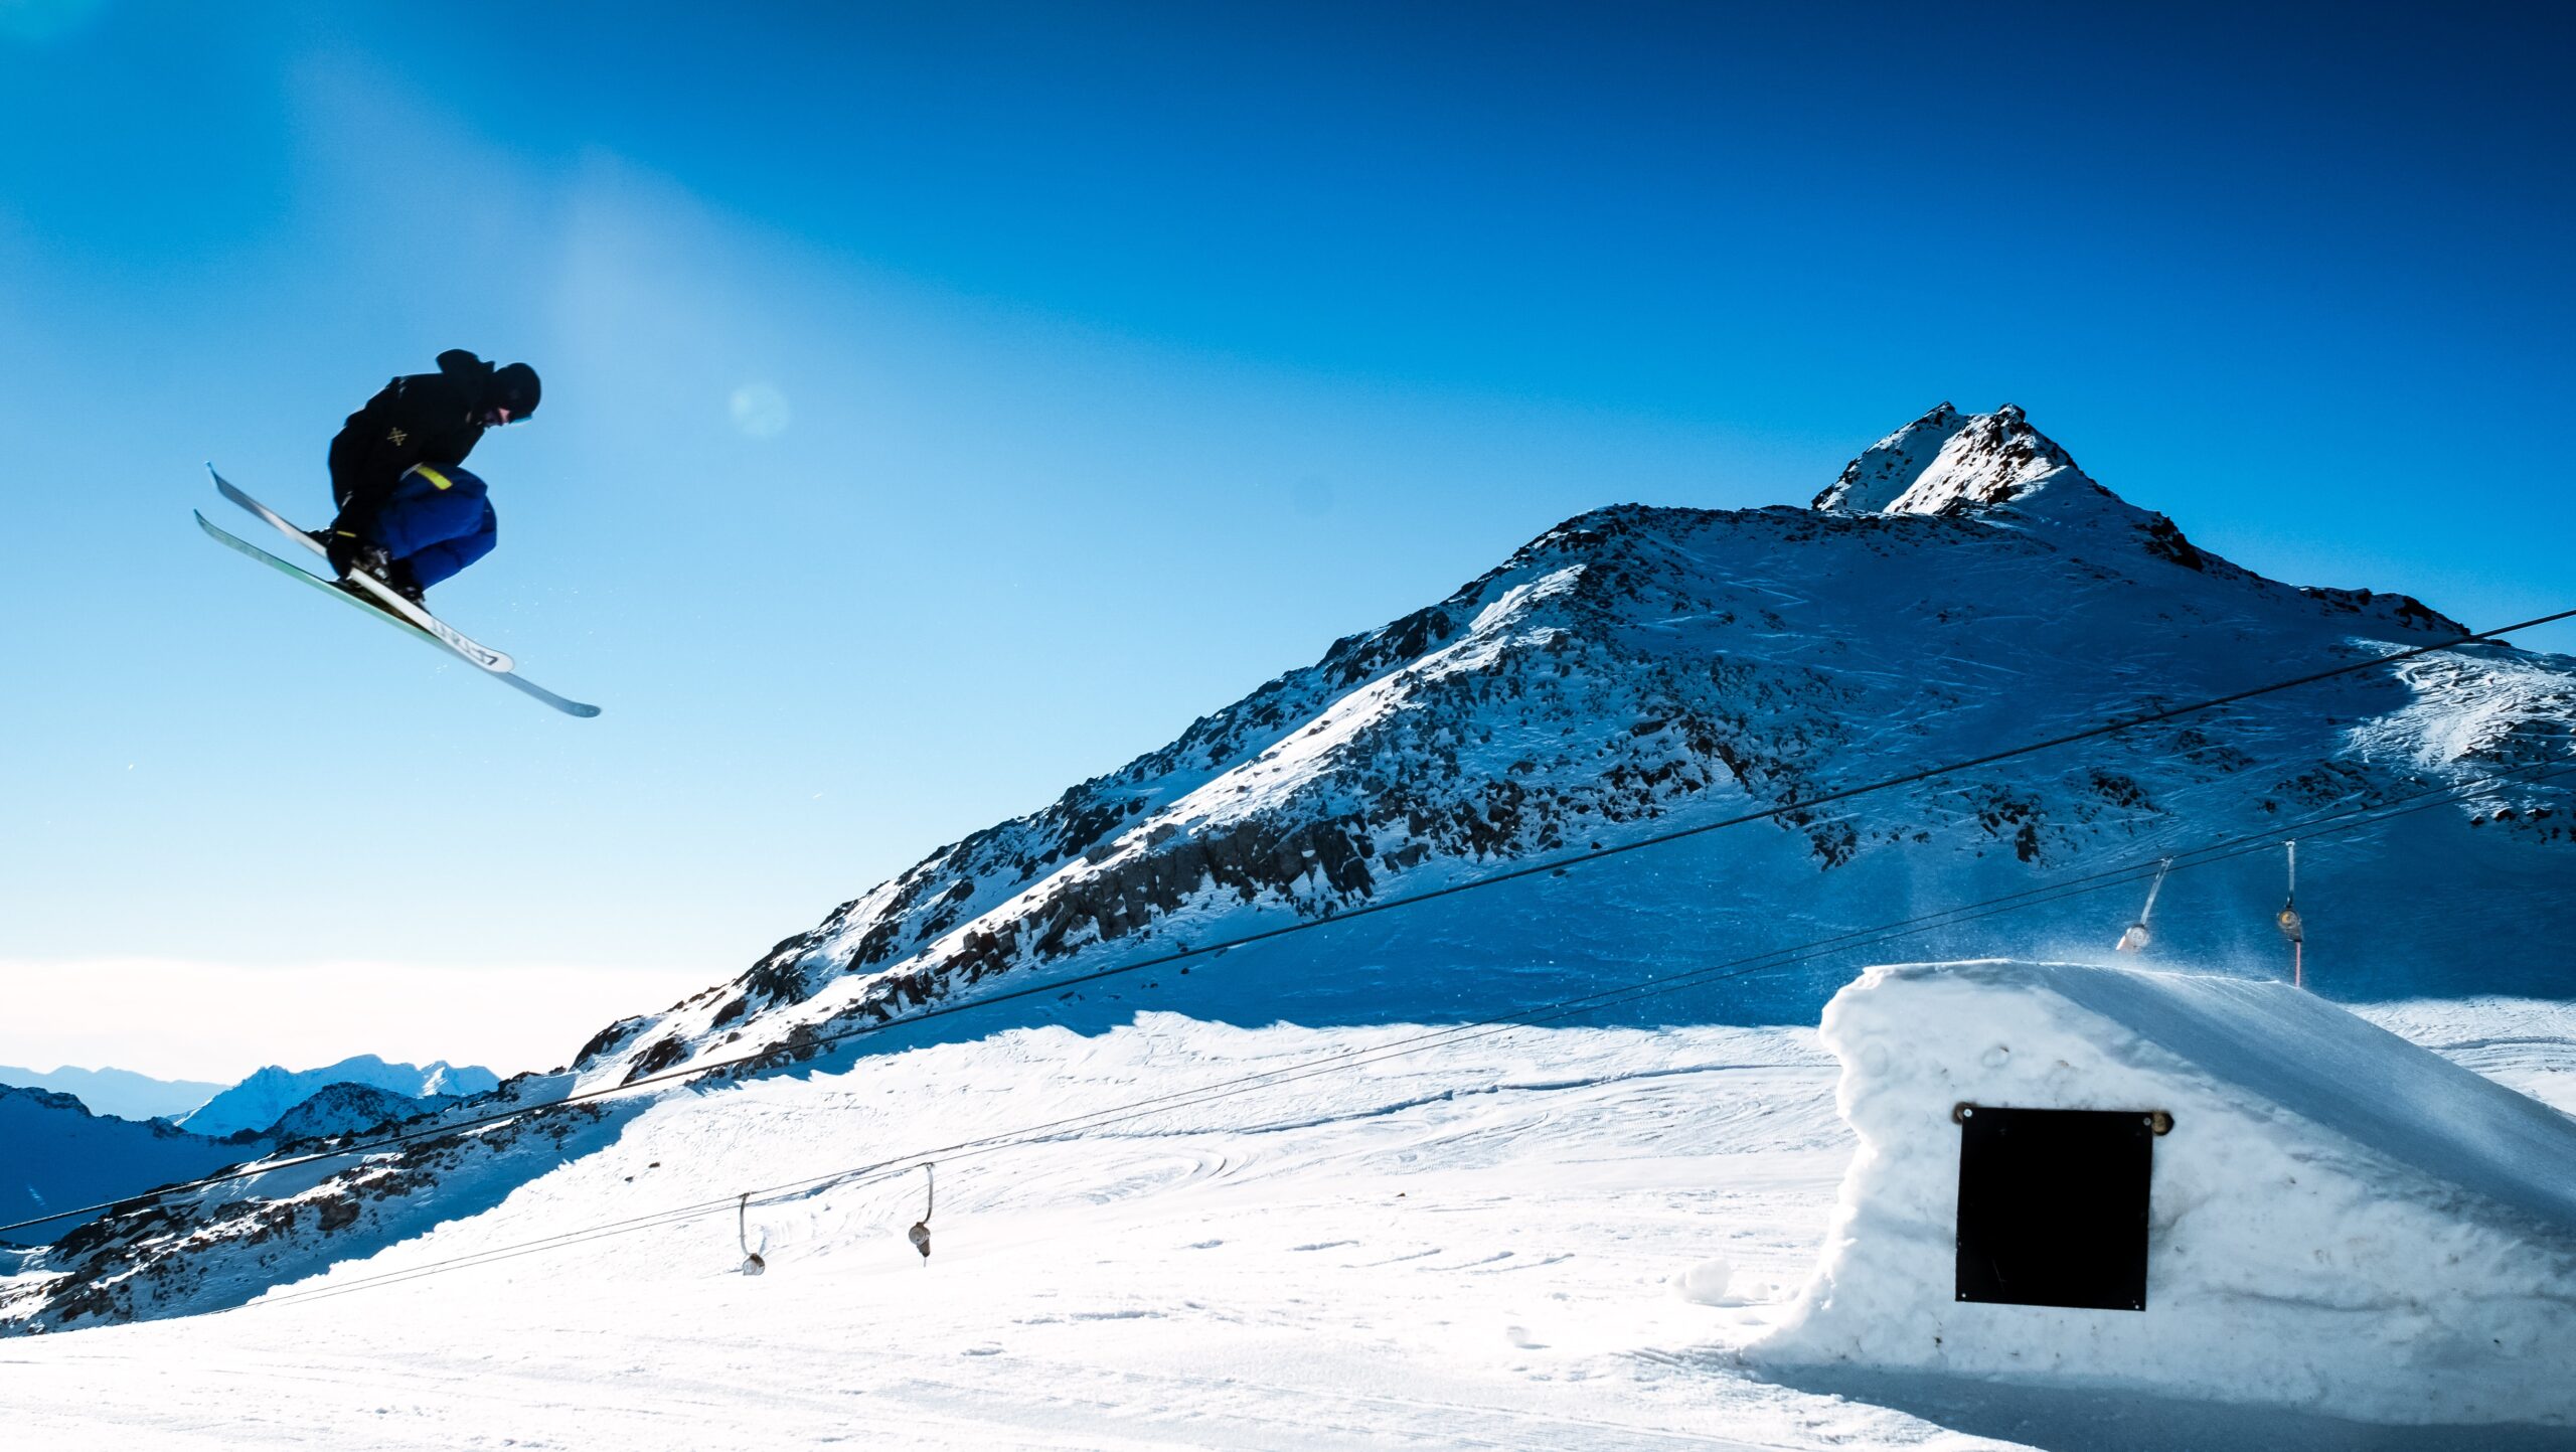
[[1950,1117],[1960,1300],[2146,1310],[2146,1184],[2161,1115],[1960,1104]]

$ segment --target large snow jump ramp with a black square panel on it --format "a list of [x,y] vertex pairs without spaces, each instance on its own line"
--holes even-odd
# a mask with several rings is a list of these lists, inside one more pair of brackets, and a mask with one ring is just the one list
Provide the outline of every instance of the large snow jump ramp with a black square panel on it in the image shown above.
[[[2269,981],[1873,968],[1824,1043],[1860,1153],[1749,1357],[2576,1424],[2576,1120]],[[1960,1102],[2174,1115],[2143,1313],[1955,1300]]]

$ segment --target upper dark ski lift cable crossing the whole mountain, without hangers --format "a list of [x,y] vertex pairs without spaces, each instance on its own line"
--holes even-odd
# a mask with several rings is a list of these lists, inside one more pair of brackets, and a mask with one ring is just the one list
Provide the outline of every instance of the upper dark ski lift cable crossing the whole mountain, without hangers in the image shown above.
[[[1991,765],[1991,762],[2022,757],[2022,754],[2030,754],[2030,752],[2045,752],[2045,749],[2063,747],[2063,744],[2071,744],[2071,741],[2107,736],[2112,731],[2128,731],[2133,726],[2148,726],[2148,723],[2156,723],[2156,721],[2172,721],[2177,716],[2190,716],[2195,711],[2210,711],[2215,705],[2228,705],[2228,703],[2246,700],[2246,698],[2254,698],[2254,695],[2267,695],[2267,693],[2275,693],[2275,690],[2290,690],[2290,687],[2298,687],[2298,685],[2311,685],[2311,682],[2318,682],[2318,680],[2329,680],[2329,677],[2339,677],[2339,675],[2352,675],[2352,672],[2360,672],[2360,669],[2372,669],[2372,667],[2391,664],[2391,662],[2398,662],[2398,659],[2421,656],[2421,654],[2429,654],[2429,651],[2437,651],[2437,649],[2452,649],[2452,646],[2460,646],[2460,644],[2488,641],[2494,636],[2509,636],[2514,631],[2527,631],[2527,628],[2545,626],[2545,623],[2563,620],[2563,618],[2576,618],[2576,610],[2561,610],[2555,615],[2540,615],[2540,618],[2532,618],[2532,620],[2519,620],[2514,626],[2501,626],[2496,631],[2486,631],[2486,633],[2478,633],[2478,636],[2460,636],[2455,641],[2445,641],[2445,644],[2434,644],[2434,646],[2411,646],[2411,649],[2391,654],[2391,656],[2372,656],[2367,662],[2354,662],[2354,664],[2334,667],[2334,669],[2326,669],[2326,672],[2311,672],[2311,675],[2303,675],[2303,677],[2290,677],[2290,680],[2282,680],[2282,682],[2259,685],[2259,687],[2239,690],[2239,693],[2231,693],[2231,695],[2218,695],[2218,698],[2210,698],[2210,700],[2202,700],[2202,703],[2195,703],[2195,705],[2177,705],[2177,708],[2156,711],[2151,716],[2133,716],[2133,718],[2112,721],[2112,723],[2094,726],[2094,729],[2087,729],[2087,731],[2050,736],[2045,741],[2035,741],[2035,744],[2025,744],[2025,747],[2012,747],[2012,749],[2004,749],[2004,752],[1989,752],[1989,754],[1973,757],[1968,762],[1953,762],[1953,765],[1945,765],[1945,767],[1927,767],[1927,770],[1919,770],[1919,772],[1906,772],[1906,775],[1886,777],[1886,780],[1878,780],[1878,783],[1862,783],[1862,785],[1855,785],[1855,788],[1842,788],[1842,790],[1834,790],[1834,793],[1824,793],[1824,796],[1795,801],[1795,803],[1783,803],[1783,806],[1754,811],[1754,814],[1728,816],[1728,819],[1718,819],[1718,821],[1703,821],[1698,826],[1685,826],[1685,829],[1677,829],[1677,832],[1664,832],[1664,834],[1656,834],[1656,837],[1646,837],[1646,839],[1636,839],[1636,842],[1620,842],[1620,844],[1613,844],[1613,847],[1597,847],[1597,850],[1587,850],[1587,852],[1577,852],[1577,855],[1561,855],[1561,857],[1551,857],[1551,860],[1543,860],[1543,862],[1530,862],[1530,865],[1522,865],[1522,868],[1510,868],[1510,870],[1502,870],[1502,873],[1489,873],[1484,878],[1471,878],[1471,880],[1463,880],[1463,883],[1448,883],[1448,886],[1440,886],[1440,888],[1427,888],[1422,893],[1409,893],[1409,896],[1396,896],[1396,898],[1381,898],[1381,901],[1373,901],[1373,904],[1360,904],[1355,909],[1337,911],[1332,917],[1301,919],[1301,922],[1288,922],[1288,924],[1280,924],[1280,927],[1270,927],[1270,929],[1260,929],[1260,932],[1247,932],[1247,935],[1218,940],[1218,942],[1206,942],[1206,945],[1193,945],[1193,947],[1177,947],[1172,953],[1159,953],[1159,955],[1131,960],[1131,963],[1115,963],[1115,965],[1108,965],[1108,968],[1095,968],[1090,973],[1074,973],[1074,976],[1064,976],[1064,978],[1046,978],[1043,983],[1030,983],[1025,989],[1007,989],[1007,991],[999,991],[999,994],[987,994],[987,996],[966,999],[966,1001],[958,1001],[958,1004],[933,1004],[933,1007],[925,1007],[925,1009],[920,1009],[914,1014],[907,1014],[907,1017],[899,1017],[899,1019],[884,1019],[884,1022],[873,1022],[873,1025],[853,1025],[848,1030],[837,1030],[837,1032],[829,1032],[829,1035],[817,1035],[817,1038],[806,1040],[804,1045],[799,1045],[799,1050],[814,1053],[814,1050],[832,1048],[832,1045],[840,1045],[840,1043],[848,1043],[848,1040],[855,1040],[855,1038],[891,1032],[891,1030],[899,1030],[899,1027],[912,1027],[912,1025],[922,1025],[922,1022],[951,1017],[951,1014],[989,1009],[989,1007],[997,1007],[997,1004],[1010,1004],[1010,1001],[1030,999],[1030,996],[1041,996],[1041,994],[1061,994],[1064,989],[1072,989],[1072,986],[1097,983],[1103,978],[1118,978],[1118,976],[1139,973],[1139,971],[1146,971],[1146,968],[1164,968],[1164,965],[1182,963],[1182,960],[1190,960],[1190,958],[1208,958],[1208,955],[1229,953],[1234,947],[1247,947],[1247,945],[1255,945],[1255,942],[1267,942],[1273,937],[1288,937],[1293,932],[1309,932],[1309,929],[1316,929],[1316,927],[1329,927],[1329,924],[1350,922],[1355,917],[1368,917],[1368,914],[1378,914],[1378,911],[1394,911],[1394,909],[1401,909],[1401,906],[1419,906],[1419,904],[1427,904],[1427,901],[1435,901],[1435,898],[1458,896],[1458,893],[1466,893],[1466,891],[1473,891],[1473,888],[1497,886],[1497,883],[1520,880],[1520,878],[1533,878],[1533,875],[1540,875],[1540,873],[1553,873],[1553,870],[1566,868],[1566,865],[1595,862],[1595,860],[1602,860],[1602,857],[1615,857],[1615,855],[1623,855],[1623,852],[1633,852],[1633,850],[1641,850],[1641,847],[1656,847],[1656,844],[1677,842],[1677,839],[1685,839],[1685,837],[1700,837],[1700,834],[1728,829],[1728,826],[1747,826],[1747,824],[1754,824],[1754,821],[1772,821],[1772,819],[1788,816],[1793,811],[1808,811],[1814,806],[1826,806],[1826,803],[1834,803],[1834,801],[1850,801],[1850,798],[1857,798],[1857,796],[1865,796],[1865,793],[1875,793],[1875,790],[1891,790],[1891,788],[1899,788],[1899,785],[1914,785],[1914,783],[1922,783],[1922,780],[1932,780],[1932,777],[1940,777],[1940,775],[1971,770],[1971,767],[1978,767],[1978,765]],[[2527,767],[2514,767],[2514,770],[2535,770],[2540,765],[2548,765],[2548,762],[2532,762]],[[2509,772],[2504,772],[2504,775],[2509,775]],[[2501,775],[2481,777],[2481,780],[2501,780]],[[2432,788],[2432,790],[2460,790],[2465,785],[2476,785],[2476,783],[2450,783],[2450,785]],[[2401,798],[2393,798],[2393,801],[2409,801],[2409,798],[2401,796]],[[2043,891],[2043,888],[2030,888],[2030,891]],[[603,1084],[598,1089],[577,1089],[572,1094],[564,1094],[559,1099],[546,1099],[546,1102],[538,1102],[538,1104],[518,1104],[518,1107],[510,1107],[510,1110],[495,1110],[495,1112],[471,1115],[471,1117],[464,1117],[464,1120],[446,1120],[446,1122],[428,1125],[428,1128],[420,1128],[420,1130],[404,1130],[404,1133],[394,1133],[394,1135],[381,1135],[381,1138],[353,1143],[353,1146],[335,1146],[335,1148],[327,1148],[327,1151],[312,1151],[312,1153],[301,1153],[301,1156],[291,1156],[291,1159],[260,1161],[260,1164],[250,1164],[250,1166],[224,1169],[224,1171],[206,1174],[206,1177],[198,1177],[198,1179],[185,1179],[185,1182],[178,1182],[178,1184],[165,1184],[165,1187],[157,1187],[157,1189],[147,1189],[142,1195],[129,1195],[124,1200],[100,1200],[100,1202],[93,1202],[93,1205],[72,1205],[67,1210],[54,1210],[54,1213],[46,1213],[46,1215],[33,1215],[28,1220],[10,1220],[10,1223],[0,1225],[0,1233],[23,1231],[23,1228],[31,1228],[31,1225],[49,1225],[54,1220],[70,1220],[75,1215],[93,1215],[93,1213],[103,1213],[103,1210],[142,1210],[147,1205],[155,1205],[160,1200],[167,1200],[173,1195],[185,1195],[185,1192],[193,1192],[193,1189],[209,1189],[209,1187],[216,1187],[216,1184],[229,1184],[229,1182],[237,1182],[237,1179],[252,1179],[252,1177],[263,1177],[263,1174],[276,1174],[281,1169],[296,1169],[296,1166],[322,1164],[322,1161],[332,1161],[332,1159],[366,1156],[366,1153],[376,1153],[376,1151],[386,1151],[386,1148],[399,1148],[399,1146],[407,1146],[407,1143],[461,1135],[461,1133],[469,1133],[469,1130],[500,1125],[500,1122],[507,1122],[507,1120],[544,1115],[544,1112],[562,1110],[562,1107],[569,1107],[569,1104],[587,1104],[587,1102],[595,1102],[595,1099],[608,1099],[613,1094],[626,1094],[626,1092],[634,1092],[634,1089],[652,1089],[652,1086],[659,1086],[659,1084],[675,1084],[675,1081],[701,1079],[701,1076],[708,1076],[708,1074],[721,1074],[726,1068],[744,1068],[744,1066],[755,1066],[755,1063],[762,1063],[762,1061],[775,1061],[781,1053],[783,1053],[783,1048],[773,1045],[773,1048],[765,1048],[765,1050],[757,1050],[757,1053],[742,1053],[742,1056],[732,1056],[732,1058],[714,1058],[714,1061],[706,1061],[706,1063],[688,1063],[688,1066],[670,1068],[670,1071],[662,1071],[662,1074],[647,1074],[641,1079],[629,1079],[629,1081],[621,1081],[621,1084]]]

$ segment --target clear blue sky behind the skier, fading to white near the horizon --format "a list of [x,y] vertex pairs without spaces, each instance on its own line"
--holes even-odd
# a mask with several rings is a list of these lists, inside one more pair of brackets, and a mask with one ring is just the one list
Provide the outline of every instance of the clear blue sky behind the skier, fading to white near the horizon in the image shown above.
[[[2267,574],[2576,600],[2566,21],[1775,10],[0,0],[0,1061],[554,1063],[1942,399]],[[456,345],[546,407],[435,602],[600,721],[188,520]]]

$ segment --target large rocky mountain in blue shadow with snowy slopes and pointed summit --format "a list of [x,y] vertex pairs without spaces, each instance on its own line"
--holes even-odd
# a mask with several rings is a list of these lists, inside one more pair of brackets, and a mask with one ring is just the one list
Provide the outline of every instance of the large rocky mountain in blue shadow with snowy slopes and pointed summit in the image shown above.
[[[2092,481],[2020,409],[1942,404],[1816,507],[1569,520],[1170,747],[933,852],[732,983],[613,1025],[580,1068],[616,1081],[719,1053],[788,1058],[933,1001],[1788,808],[1564,883],[1270,945],[1221,986],[1175,996],[1167,981],[1159,999],[1236,1022],[1440,1017],[1775,940],[1785,922],[1973,901],[2496,772],[2522,777],[2318,865],[2324,983],[2561,994],[2576,798],[2543,772],[2576,765],[2576,662],[2558,656],[2442,651],[1795,811],[1909,767],[2458,633],[2403,595],[2239,569]],[[2221,963],[2262,950],[2269,971],[2246,927],[2277,880],[2277,865],[2249,865],[2177,893],[2172,947]],[[2458,924],[2427,911],[2465,883],[2527,904],[2481,927],[2478,958],[2452,953]],[[2014,919],[1935,947],[2038,955],[2061,929]],[[1528,971],[1533,947],[1546,971]],[[1839,981],[1731,986],[1687,1012],[1801,1022]]]

